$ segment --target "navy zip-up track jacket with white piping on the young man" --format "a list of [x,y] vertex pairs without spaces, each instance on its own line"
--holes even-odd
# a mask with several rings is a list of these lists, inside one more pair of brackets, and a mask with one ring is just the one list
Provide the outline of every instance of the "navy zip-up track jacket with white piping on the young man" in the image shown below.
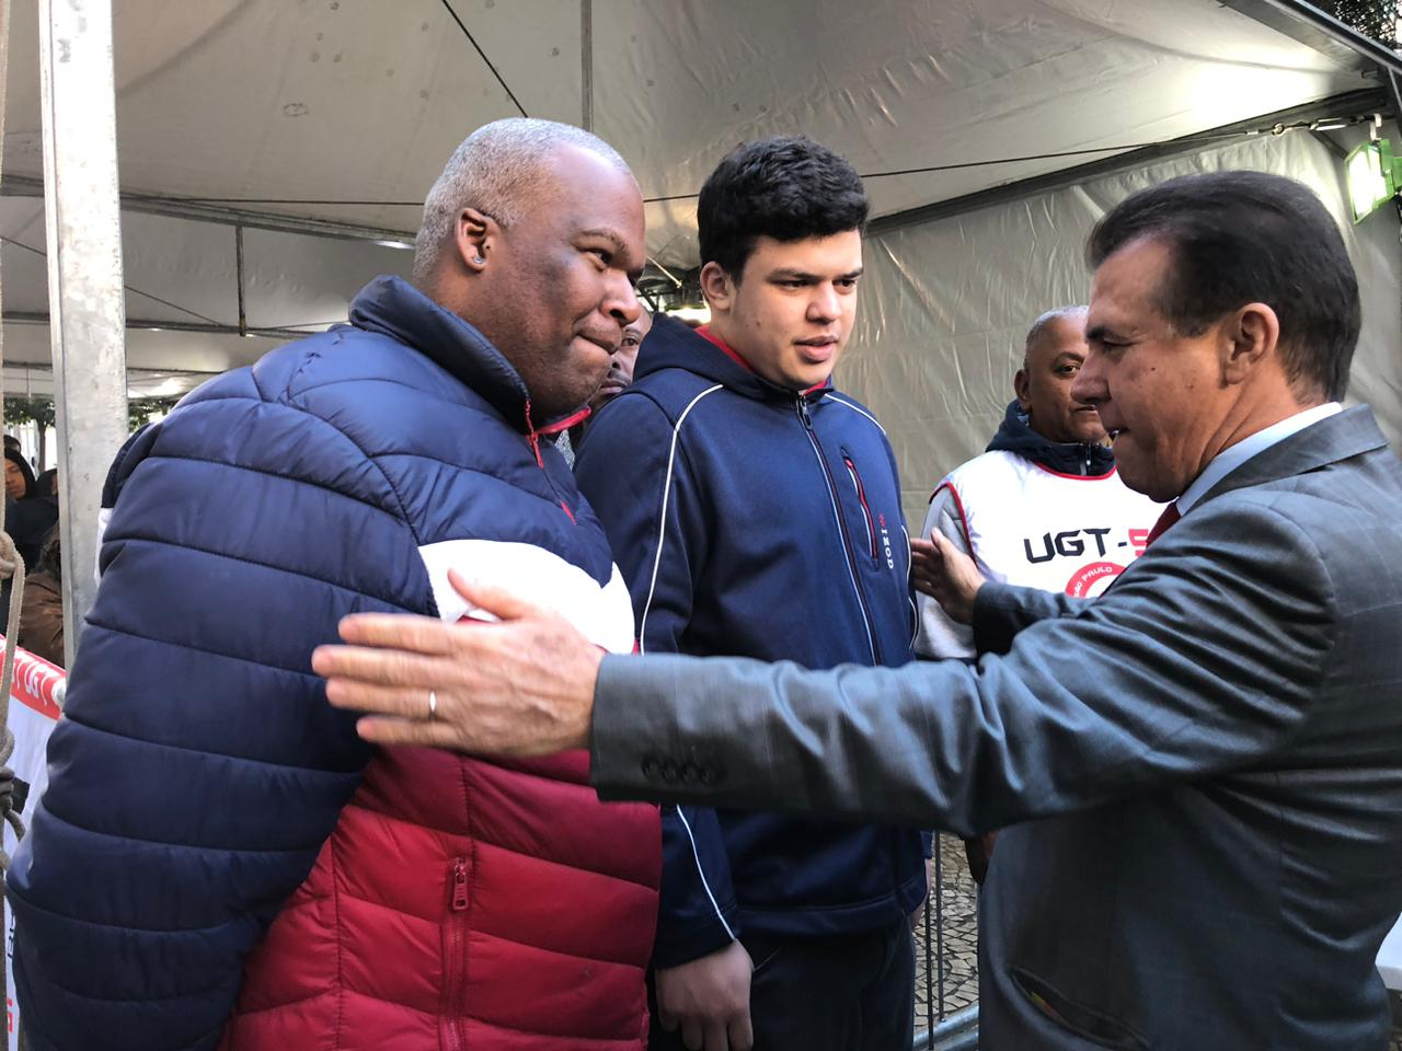
[[[775,387],[659,317],[575,471],[632,594],[642,653],[810,668],[911,660],[894,457],[871,413],[830,385]],[[872,930],[924,893],[914,830],[667,807],[653,964],[695,960],[743,928]]]

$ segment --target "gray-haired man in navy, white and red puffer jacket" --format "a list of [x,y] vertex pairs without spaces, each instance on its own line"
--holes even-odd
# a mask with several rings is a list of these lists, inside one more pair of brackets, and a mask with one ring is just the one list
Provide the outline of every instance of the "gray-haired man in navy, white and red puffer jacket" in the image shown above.
[[[313,649],[512,582],[632,614],[545,436],[638,317],[644,214],[596,137],[502,121],[425,203],[412,284],[219,377],[116,471],[104,579],[10,872],[36,1051],[639,1051],[656,807],[587,755],[370,747]],[[433,717],[433,695],[422,719]]]

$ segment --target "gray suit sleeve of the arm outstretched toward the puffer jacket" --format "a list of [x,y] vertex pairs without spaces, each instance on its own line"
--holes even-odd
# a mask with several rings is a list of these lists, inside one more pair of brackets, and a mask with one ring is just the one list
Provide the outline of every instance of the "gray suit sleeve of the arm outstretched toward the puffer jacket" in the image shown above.
[[594,783],[973,835],[1269,758],[1336,633],[1308,531],[1249,495],[1204,504],[1067,614],[977,666],[607,657]]

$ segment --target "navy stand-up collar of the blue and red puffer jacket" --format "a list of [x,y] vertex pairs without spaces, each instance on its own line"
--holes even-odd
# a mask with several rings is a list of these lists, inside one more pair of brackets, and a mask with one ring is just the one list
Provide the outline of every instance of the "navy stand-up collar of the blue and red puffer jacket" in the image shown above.
[[485,398],[510,426],[531,429],[530,391],[515,366],[472,325],[402,277],[381,275],[360,289],[350,303],[350,324],[418,350]]

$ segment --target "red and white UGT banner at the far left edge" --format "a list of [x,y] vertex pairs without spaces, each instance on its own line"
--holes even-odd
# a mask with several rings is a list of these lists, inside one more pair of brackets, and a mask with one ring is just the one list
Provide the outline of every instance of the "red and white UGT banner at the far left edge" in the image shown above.
[[[4,638],[0,636],[0,646]],[[59,703],[62,702],[62,684],[64,681],[63,668],[50,664],[42,657],[35,657],[27,650],[15,650],[14,682],[10,684],[10,729],[14,731],[14,754],[10,757],[10,768],[17,781],[29,786],[29,795],[20,814],[25,821],[34,813],[49,783],[49,764],[46,751],[49,734],[59,720]],[[11,858],[18,845],[14,830],[6,821],[4,849]],[[4,954],[6,967],[6,1029],[8,1030],[7,1047],[18,1051],[15,1020],[20,1010],[14,999],[14,912],[6,909],[6,937]]]

